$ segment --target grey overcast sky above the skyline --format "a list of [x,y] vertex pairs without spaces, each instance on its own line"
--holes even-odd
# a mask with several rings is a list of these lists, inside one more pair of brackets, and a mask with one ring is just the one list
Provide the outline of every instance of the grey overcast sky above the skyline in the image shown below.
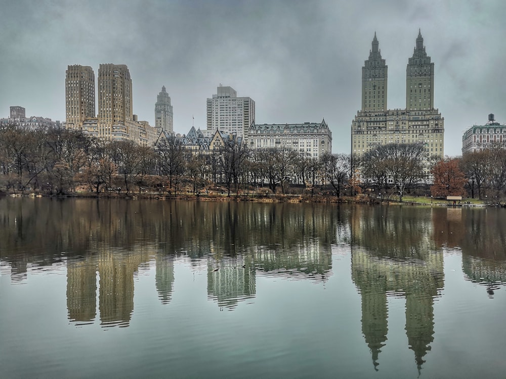
[[506,122],[506,2],[0,0],[0,117],[65,120],[67,65],[125,64],[134,113],[154,124],[165,85],[174,130],[205,129],[221,83],[256,103],[256,123],[319,122],[332,152],[350,152],[361,68],[376,32],[388,65],[388,108],[406,108],[406,64],[418,28],[435,63],[445,155],[489,113]]

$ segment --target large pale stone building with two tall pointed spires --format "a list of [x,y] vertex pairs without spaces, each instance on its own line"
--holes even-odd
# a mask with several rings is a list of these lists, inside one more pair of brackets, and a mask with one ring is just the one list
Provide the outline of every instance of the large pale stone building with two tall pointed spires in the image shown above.
[[406,108],[387,109],[388,66],[374,33],[362,67],[362,109],[351,126],[351,152],[359,156],[386,144],[423,144],[427,157],[444,156],[444,118],[434,108],[434,63],[418,31],[406,67]]

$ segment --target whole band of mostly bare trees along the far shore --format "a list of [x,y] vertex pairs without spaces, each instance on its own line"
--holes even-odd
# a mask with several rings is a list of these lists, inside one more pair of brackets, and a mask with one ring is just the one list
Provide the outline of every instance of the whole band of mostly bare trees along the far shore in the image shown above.
[[324,153],[315,158],[277,148],[251,150],[234,139],[215,151],[191,152],[178,138],[160,138],[147,147],[60,128],[0,128],[0,191],[65,195],[88,188],[200,195],[220,188],[230,196],[285,194],[295,187],[311,196],[469,195],[500,204],[506,199],[506,150],[496,146],[441,159],[427,158],[423,145],[388,144],[360,157]]

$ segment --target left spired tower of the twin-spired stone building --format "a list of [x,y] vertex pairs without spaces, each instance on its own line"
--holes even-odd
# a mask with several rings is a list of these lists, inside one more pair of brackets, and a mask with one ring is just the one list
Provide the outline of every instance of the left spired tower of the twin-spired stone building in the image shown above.
[[385,112],[387,110],[388,66],[378,49],[379,42],[374,32],[369,59],[362,67],[362,111]]

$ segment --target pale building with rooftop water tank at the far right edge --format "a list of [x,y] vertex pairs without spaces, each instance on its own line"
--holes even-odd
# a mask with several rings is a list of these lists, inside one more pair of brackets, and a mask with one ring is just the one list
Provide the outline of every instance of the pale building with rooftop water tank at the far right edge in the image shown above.
[[506,125],[494,120],[494,114],[488,115],[485,125],[473,125],[462,135],[462,154],[489,149],[493,145],[506,144]]

